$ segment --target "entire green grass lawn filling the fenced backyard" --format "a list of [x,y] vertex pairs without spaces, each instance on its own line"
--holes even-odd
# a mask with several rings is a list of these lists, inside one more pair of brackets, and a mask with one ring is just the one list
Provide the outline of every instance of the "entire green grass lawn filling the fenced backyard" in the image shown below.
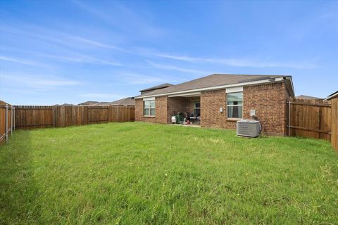
[[0,224],[337,224],[326,141],[137,122],[18,130]]

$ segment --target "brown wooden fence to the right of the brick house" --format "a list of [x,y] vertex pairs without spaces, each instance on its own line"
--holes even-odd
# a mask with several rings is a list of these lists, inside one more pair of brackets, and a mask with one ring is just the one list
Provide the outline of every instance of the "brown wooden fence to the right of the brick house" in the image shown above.
[[288,103],[289,136],[325,139],[338,150],[338,99],[291,99]]

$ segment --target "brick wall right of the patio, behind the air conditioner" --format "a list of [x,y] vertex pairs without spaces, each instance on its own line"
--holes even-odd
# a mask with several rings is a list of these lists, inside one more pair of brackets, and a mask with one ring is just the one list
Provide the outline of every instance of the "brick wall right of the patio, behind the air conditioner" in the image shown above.
[[[287,134],[287,99],[284,83],[244,86],[243,117],[251,119],[250,110],[256,110],[262,131],[270,135]],[[224,90],[201,93],[201,127],[236,129],[236,121],[227,120]],[[220,113],[223,108],[223,113]]]

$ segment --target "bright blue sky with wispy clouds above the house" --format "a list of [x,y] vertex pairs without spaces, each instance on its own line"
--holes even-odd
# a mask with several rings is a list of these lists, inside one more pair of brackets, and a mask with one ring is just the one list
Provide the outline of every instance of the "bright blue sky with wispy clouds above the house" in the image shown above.
[[213,73],[338,90],[338,1],[0,1],[0,98],[114,101]]

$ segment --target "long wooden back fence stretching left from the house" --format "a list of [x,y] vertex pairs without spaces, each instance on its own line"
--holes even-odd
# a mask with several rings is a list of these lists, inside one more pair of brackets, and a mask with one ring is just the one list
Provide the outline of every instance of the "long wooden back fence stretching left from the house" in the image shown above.
[[134,105],[31,106],[15,105],[15,127],[68,127],[103,122],[134,121]]

